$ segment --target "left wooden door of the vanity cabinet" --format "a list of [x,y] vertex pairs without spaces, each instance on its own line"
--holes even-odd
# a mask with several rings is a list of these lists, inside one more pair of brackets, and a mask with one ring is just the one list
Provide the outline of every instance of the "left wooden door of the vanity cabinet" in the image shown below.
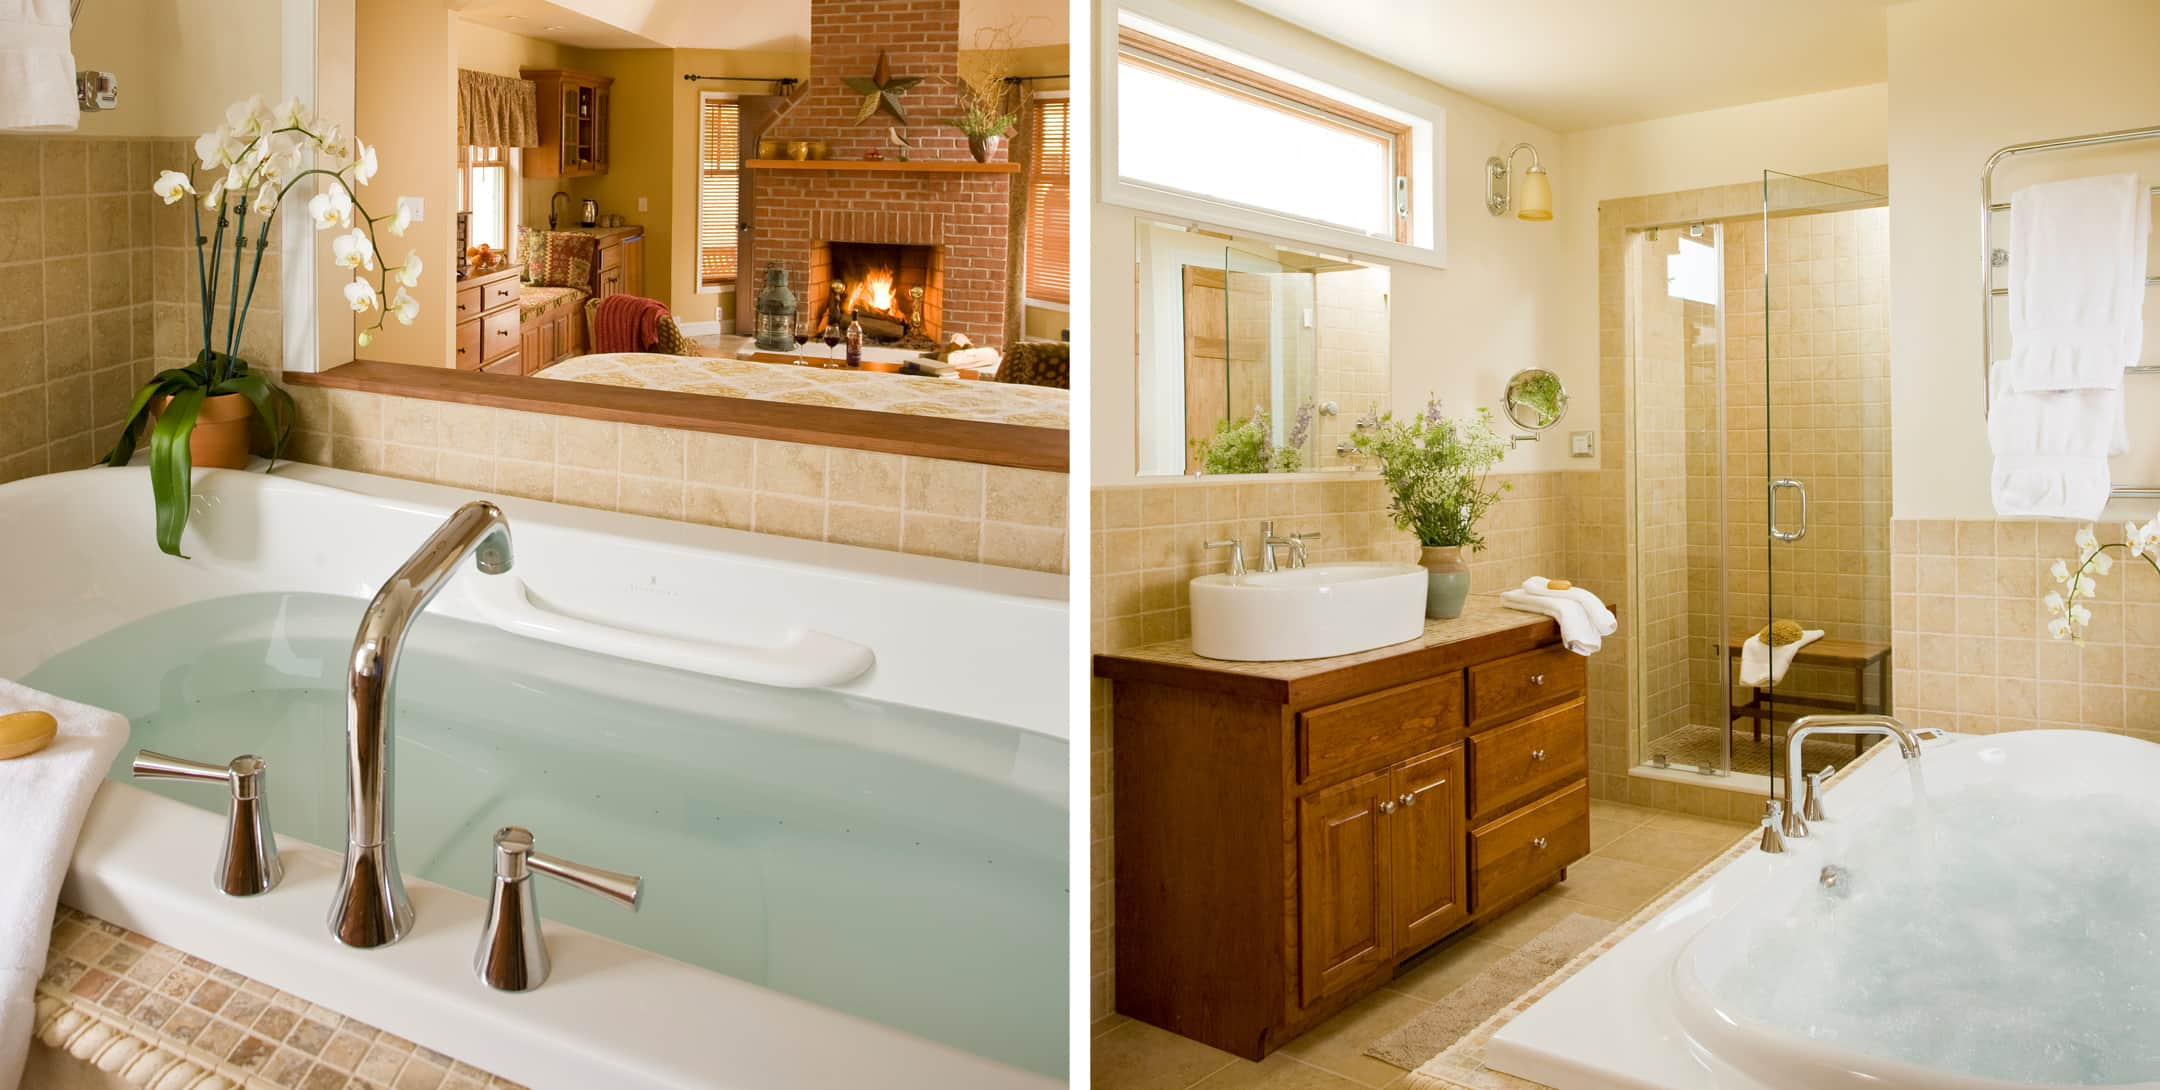
[[[1389,956],[1389,773],[1298,801],[1298,989],[1341,991]],[[1382,809],[1385,805],[1385,809]]]

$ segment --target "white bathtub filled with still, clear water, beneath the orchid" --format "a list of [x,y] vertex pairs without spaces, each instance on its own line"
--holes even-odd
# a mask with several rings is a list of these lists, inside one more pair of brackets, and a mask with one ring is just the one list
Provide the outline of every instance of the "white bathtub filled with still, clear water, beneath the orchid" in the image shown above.
[[[417,926],[337,945],[352,635],[469,499],[205,471],[184,561],[143,468],[0,488],[0,676],[132,723],[63,898],[538,1090],[1063,1081],[1048,574],[499,499],[512,572],[467,561],[397,673]],[[266,758],[283,885],[216,894],[225,794],[132,784],[138,747]],[[523,995],[471,967],[501,825],[646,881],[635,915],[542,883],[555,969]]]

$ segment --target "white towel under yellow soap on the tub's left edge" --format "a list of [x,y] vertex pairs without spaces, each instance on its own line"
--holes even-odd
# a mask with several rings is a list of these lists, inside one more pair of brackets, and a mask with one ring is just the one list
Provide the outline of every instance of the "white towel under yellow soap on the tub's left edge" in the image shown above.
[[28,758],[0,760],[0,1090],[15,1088],[28,1058],[37,978],[76,833],[127,745],[127,719],[0,680],[0,714],[28,710],[52,712],[60,730]]

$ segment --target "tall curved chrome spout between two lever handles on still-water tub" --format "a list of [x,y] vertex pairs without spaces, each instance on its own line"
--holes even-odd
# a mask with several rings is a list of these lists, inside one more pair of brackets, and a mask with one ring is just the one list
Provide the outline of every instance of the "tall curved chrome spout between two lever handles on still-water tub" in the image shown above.
[[397,568],[361,615],[346,689],[346,868],[330,904],[330,935],[346,945],[389,945],[413,930],[413,898],[397,872],[391,829],[391,686],[406,632],[471,555],[484,574],[510,570],[510,522],[486,501],[458,507]]

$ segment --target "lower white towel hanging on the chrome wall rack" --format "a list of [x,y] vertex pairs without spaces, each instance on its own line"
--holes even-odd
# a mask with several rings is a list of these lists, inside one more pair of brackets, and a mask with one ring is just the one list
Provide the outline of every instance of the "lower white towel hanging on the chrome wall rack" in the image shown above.
[[2097,520],[2112,488],[2108,455],[2130,449],[2123,391],[2024,393],[2011,389],[2009,373],[2009,363],[1987,369],[1996,514]]

